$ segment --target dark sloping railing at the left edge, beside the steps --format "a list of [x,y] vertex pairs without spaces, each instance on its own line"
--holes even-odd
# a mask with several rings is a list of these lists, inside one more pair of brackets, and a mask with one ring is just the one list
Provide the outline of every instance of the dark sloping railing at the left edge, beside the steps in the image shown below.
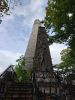
[[11,83],[16,79],[16,74],[14,71],[14,66],[10,65],[1,75],[0,75],[0,100],[4,96],[5,91],[11,85]]

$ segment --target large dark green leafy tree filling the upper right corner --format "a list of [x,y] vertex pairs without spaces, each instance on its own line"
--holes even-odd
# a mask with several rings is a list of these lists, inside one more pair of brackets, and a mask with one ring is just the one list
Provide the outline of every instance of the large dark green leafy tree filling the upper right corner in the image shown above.
[[48,0],[44,24],[53,30],[49,42],[66,43],[75,58],[75,0]]

